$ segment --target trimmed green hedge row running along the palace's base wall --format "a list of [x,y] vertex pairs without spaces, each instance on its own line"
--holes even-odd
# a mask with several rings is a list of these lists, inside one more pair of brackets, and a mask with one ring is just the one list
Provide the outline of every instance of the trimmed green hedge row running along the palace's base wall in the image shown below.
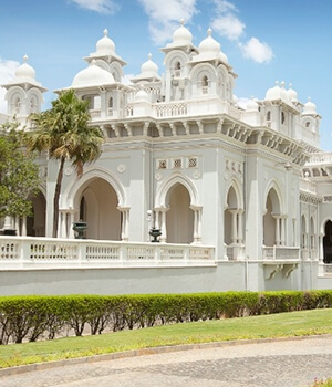
[[332,307],[332,291],[224,292],[153,295],[1,296],[0,344],[81,336],[248,315]]

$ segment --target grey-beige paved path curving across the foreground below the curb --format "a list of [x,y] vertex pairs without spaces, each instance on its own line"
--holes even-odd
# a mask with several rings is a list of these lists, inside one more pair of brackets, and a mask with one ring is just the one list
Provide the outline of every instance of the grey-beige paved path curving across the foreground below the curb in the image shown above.
[[0,374],[0,387],[307,387],[315,377],[332,377],[332,335]]

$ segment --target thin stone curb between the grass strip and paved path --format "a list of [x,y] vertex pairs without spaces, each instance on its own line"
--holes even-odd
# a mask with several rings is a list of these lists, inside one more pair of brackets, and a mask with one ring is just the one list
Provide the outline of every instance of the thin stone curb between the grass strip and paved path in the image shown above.
[[236,346],[236,345],[248,345],[248,344],[303,341],[303,339],[319,338],[322,336],[332,337],[332,334],[312,335],[312,336],[289,336],[289,337],[277,337],[277,338],[252,338],[252,339],[240,339],[240,341],[229,341],[229,342],[212,342],[212,343],[197,343],[197,344],[181,344],[181,345],[165,345],[160,347],[132,349],[132,351],[116,352],[112,354],[93,355],[93,356],[70,358],[64,360],[35,363],[35,364],[29,364],[24,366],[2,368],[0,369],[0,377],[19,375],[19,374],[30,373],[33,370],[43,370],[43,369],[63,367],[68,365],[107,362],[107,360],[115,360],[120,358],[128,358],[128,357],[144,356],[144,355],[157,355],[157,354],[166,354],[170,352],[181,352],[181,351],[190,351],[190,349],[222,348],[222,347],[229,347],[229,346]]

